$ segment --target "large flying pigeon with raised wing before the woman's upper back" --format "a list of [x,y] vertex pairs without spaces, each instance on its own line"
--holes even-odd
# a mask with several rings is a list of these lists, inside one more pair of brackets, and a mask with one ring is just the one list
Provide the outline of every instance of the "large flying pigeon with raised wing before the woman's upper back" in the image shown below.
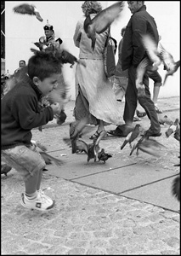
[[110,26],[110,24],[119,17],[124,7],[124,1],[117,1],[106,9],[100,11],[92,20],[90,15],[84,20],[83,28],[88,38],[92,40],[92,49],[96,41],[96,33],[100,34]]

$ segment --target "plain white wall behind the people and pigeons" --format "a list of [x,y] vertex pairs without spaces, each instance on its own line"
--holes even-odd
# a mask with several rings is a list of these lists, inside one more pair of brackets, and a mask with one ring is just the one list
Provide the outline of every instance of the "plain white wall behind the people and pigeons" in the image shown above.
[[[82,3],[84,1],[5,1],[5,34],[6,34],[6,70],[14,73],[20,59],[26,62],[31,56],[31,48],[37,49],[32,42],[37,42],[44,35],[43,26],[47,20],[54,26],[56,37],[63,39],[63,46],[73,55],[78,57],[79,49],[73,44],[73,34],[76,21],[82,17]],[[103,7],[107,7],[115,1],[100,1]],[[42,15],[40,22],[35,16],[14,14],[13,8],[22,3],[34,4]],[[161,34],[161,43],[169,50],[178,61],[180,55],[180,3],[179,1],[145,1],[150,15],[154,16]],[[131,13],[127,9],[127,1],[122,17],[111,26],[111,34],[117,42],[121,39],[122,26],[127,25]],[[117,55],[116,55],[117,61]],[[76,66],[75,66],[76,67]],[[75,99],[75,67],[65,66],[67,82],[71,86],[71,99]],[[159,69],[164,78],[165,71],[162,66]],[[167,79],[167,84],[161,87],[160,97],[179,96],[180,75],[178,72]],[[150,80],[152,92],[153,83]]]

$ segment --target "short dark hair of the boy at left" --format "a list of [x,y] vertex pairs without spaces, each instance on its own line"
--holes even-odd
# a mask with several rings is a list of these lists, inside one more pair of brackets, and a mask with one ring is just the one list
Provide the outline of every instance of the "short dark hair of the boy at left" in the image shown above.
[[62,62],[59,53],[34,50],[34,55],[28,61],[27,73],[30,79],[37,77],[41,81],[53,73],[61,73]]

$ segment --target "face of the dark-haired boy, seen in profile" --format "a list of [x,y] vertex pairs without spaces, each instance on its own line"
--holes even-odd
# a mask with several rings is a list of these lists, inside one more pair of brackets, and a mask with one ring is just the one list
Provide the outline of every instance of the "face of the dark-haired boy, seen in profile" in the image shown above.
[[37,77],[33,78],[33,83],[37,85],[38,89],[42,91],[43,96],[47,96],[58,85],[60,73],[54,73],[51,77],[43,79],[42,81]]

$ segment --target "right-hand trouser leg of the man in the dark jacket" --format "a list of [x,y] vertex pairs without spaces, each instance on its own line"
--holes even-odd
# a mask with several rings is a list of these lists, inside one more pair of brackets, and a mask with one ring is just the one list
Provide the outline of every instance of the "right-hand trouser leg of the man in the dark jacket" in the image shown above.
[[144,75],[145,96],[139,97],[139,104],[144,108],[150,119],[150,129],[147,132],[150,136],[160,136],[161,125],[159,124],[154,102],[150,98],[149,77]]

